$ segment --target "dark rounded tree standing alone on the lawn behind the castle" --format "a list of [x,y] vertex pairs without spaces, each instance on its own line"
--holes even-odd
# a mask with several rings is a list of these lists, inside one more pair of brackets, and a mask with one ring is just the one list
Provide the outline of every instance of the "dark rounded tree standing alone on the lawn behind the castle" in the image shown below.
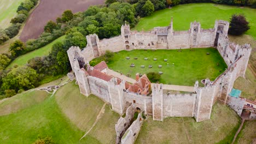
[[241,35],[250,29],[249,22],[246,21],[243,15],[232,15],[229,25],[229,34],[231,35]]

